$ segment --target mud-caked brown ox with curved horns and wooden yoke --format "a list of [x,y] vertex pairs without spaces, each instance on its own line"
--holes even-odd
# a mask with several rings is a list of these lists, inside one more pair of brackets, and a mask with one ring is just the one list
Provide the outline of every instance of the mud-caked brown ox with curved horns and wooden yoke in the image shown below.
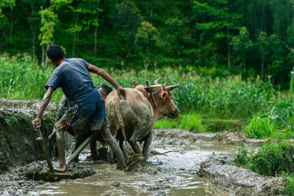
[[[158,84],[158,78],[155,84]],[[179,109],[173,103],[172,89],[180,84],[165,86],[161,91],[153,93],[157,109],[155,109],[150,94],[142,85],[136,89],[125,88],[126,100],[120,100],[115,91],[111,92],[105,100],[107,119],[110,124],[110,131],[114,138],[120,141],[123,150],[123,140],[131,145],[135,153],[141,153],[137,142],[143,142],[142,153],[147,154],[150,147],[154,123],[165,116],[177,118]],[[108,146],[107,159],[109,163],[113,161],[113,151]]]

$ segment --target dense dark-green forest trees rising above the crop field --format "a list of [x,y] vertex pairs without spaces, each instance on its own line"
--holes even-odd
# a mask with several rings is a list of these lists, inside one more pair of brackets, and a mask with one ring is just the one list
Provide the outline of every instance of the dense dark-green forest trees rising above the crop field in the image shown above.
[[290,0],[0,0],[0,52],[46,49],[102,68],[190,66],[286,87],[294,62]]

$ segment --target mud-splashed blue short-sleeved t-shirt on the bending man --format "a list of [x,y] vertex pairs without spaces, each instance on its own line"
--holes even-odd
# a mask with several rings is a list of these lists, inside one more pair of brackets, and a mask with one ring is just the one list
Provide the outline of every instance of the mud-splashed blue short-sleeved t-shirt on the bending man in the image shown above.
[[80,58],[66,59],[54,70],[45,88],[61,87],[71,104],[104,101],[90,76],[89,65]]

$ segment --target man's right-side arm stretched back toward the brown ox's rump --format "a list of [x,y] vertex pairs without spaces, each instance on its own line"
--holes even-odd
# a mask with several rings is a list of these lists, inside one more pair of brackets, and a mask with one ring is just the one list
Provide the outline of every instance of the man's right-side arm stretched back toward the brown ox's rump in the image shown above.
[[126,92],[121,87],[108,73],[106,73],[104,70],[94,66],[94,65],[89,65],[88,71],[92,73],[97,73],[101,77],[103,77],[106,81],[108,81],[110,84],[114,86],[114,88],[117,90],[118,96],[120,98],[123,98],[124,100],[126,99]]

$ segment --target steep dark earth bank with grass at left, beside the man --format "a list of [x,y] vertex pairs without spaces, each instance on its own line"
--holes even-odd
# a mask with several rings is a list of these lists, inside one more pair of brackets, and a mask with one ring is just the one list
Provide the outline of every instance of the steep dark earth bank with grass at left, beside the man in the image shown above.
[[[0,173],[9,167],[45,159],[40,143],[35,140],[38,134],[31,124],[36,115],[36,110],[0,108]],[[43,117],[47,115],[52,114],[46,113]],[[46,145],[53,125],[53,122],[43,118],[41,132]],[[70,149],[72,141],[69,134],[66,134],[66,141],[67,149]]]

